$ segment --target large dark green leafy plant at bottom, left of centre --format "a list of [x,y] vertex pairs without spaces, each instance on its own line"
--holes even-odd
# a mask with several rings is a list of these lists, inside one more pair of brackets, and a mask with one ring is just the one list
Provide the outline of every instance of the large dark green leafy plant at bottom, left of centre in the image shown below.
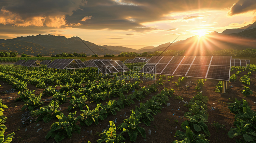
[[68,117],[66,117],[63,113],[56,115],[59,119],[58,122],[55,122],[51,125],[51,130],[45,136],[46,140],[49,137],[55,139],[56,142],[60,142],[61,140],[65,139],[66,137],[71,138],[72,132],[80,133],[81,127],[76,125],[76,122],[81,118],[80,116],[74,117],[76,112],[69,113]]

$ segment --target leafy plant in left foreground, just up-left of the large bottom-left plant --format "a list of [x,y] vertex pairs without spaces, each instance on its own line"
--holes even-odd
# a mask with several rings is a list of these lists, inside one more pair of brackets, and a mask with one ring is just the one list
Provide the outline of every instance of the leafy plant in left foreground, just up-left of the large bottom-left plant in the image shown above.
[[39,115],[36,122],[43,120],[45,123],[48,123],[53,118],[56,118],[56,115],[59,115],[61,111],[59,111],[59,101],[52,100],[48,106],[41,107],[37,115]]

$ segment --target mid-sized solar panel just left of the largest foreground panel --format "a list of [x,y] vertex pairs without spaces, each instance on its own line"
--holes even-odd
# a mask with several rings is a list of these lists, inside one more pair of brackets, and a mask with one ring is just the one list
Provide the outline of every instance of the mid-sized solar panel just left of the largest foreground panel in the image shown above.
[[102,74],[118,73],[130,71],[120,60],[94,60],[95,65],[99,68]]

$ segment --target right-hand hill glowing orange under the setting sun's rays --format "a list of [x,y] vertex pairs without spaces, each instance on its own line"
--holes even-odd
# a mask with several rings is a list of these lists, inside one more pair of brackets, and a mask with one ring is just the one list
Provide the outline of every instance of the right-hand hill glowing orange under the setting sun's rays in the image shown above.
[[198,36],[193,36],[186,40],[173,43],[168,49],[166,49],[167,47],[163,47],[157,51],[163,51],[165,49],[186,50],[187,54],[191,54],[198,51],[204,51],[205,49],[210,51],[222,49],[256,49],[256,28],[250,29],[251,26],[238,33],[218,35],[214,32],[205,35],[205,38],[200,39]]

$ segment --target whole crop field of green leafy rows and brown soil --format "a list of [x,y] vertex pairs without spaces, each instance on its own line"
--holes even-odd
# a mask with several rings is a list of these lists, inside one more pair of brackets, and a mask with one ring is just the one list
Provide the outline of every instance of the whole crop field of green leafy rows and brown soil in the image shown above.
[[212,79],[0,65],[0,130],[11,142],[255,142],[255,69],[232,67],[222,93]]

